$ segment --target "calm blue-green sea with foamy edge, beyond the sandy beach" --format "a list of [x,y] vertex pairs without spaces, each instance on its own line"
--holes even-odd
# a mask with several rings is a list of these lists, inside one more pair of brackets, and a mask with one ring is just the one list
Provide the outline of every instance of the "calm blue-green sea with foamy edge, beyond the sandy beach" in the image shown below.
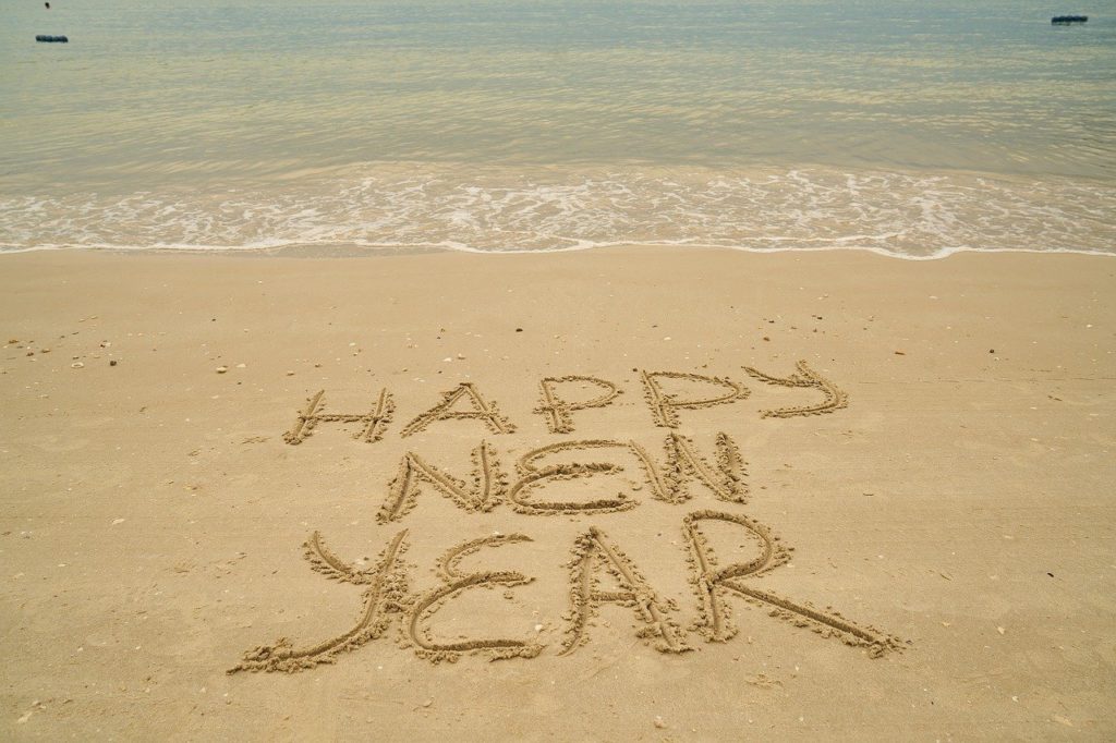
[[1116,253],[1091,1],[4,0],[0,252]]

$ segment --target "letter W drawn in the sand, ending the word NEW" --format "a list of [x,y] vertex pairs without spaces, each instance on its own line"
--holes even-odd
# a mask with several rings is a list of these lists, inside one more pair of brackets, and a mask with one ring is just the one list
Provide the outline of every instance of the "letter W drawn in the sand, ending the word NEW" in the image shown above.
[[722,501],[744,503],[748,496],[747,472],[740,450],[729,434],[716,435],[716,469],[711,466],[694,450],[693,441],[671,432],[663,447],[666,450],[665,465],[660,469],[645,448],[629,442],[635,455],[643,463],[647,484],[655,499],[667,503],[683,503],[691,495],[686,479],[696,477]]

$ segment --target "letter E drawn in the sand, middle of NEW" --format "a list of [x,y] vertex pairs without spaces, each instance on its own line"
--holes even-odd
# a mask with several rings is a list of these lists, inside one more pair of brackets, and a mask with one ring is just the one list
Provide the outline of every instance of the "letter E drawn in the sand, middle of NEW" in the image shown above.
[[575,480],[577,477],[590,477],[594,474],[612,474],[623,471],[618,464],[607,462],[588,463],[562,463],[539,467],[536,463],[541,456],[556,452],[573,451],[579,448],[615,448],[627,447],[627,444],[619,441],[587,440],[566,441],[557,444],[549,444],[531,450],[520,457],[516,464],[520,479],[511,486],[508,500],[511,506],[519,513],[536,515],[557,515],[561,513],[615,513],[634,509],[638,503],[624,493],[617,493],[616,498],[597,499],[593,501],[531,501],[527,496],[531,490],[541,486],[542,483],[555,480]]

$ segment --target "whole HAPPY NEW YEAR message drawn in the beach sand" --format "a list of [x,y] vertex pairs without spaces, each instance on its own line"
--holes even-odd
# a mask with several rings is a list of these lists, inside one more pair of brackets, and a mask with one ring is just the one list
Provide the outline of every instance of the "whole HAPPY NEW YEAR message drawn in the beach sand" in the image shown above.
[[[783,377],[743,368],[762,384],[820,394],[800,406],[762,411],[761,417],[824,415],[847,405],[844,390],[806,361],[799,361],[796,370]],[[625,554],[623,538],[590,525],[570,546],[571,559],[567,563],[569,609],[565,615],[565,638],[557,648],[559,655],[574,653],[589,641],[593,619],[604,605],[629,609],[635,635],[662,653],[695,649],[692,633],[705,643],[727,643],[738,633],[732,599],[762,607],[769,616],[810,628],[819,636],[864,647],[873,657],[898,649],[901,643],[893,635],[856,624],[833,609],[821,610],[753,585],[753,579],[785,565],[791,548],[783,546],[769,527],[739,512],[748,501],[749,486],[745,462],[732,437],[720,432],[712,451],[702,452],[692,438],[677,432],[684,411],[733,404],[747,398],[749,388],[725,377],[686,372],[641,370],[639,385],[651,422],[666,430],[661,452],[652,453],[629,438],[564,438],[521,455],[516,462],[514,477],[510,477],[500,463],[499,447],[481,440],[472,450],[472,471],[468,479],[451,474],[416,452],[406,452],[395,476],[384,488],[377,521],[385,525],[402,521],[415,506],[424,488],[465,512],[489,512],[508,504],[519,514],[536,517],[616,513],[639,504],[631,493],[623,491],[596,500],[548,498],[548,488],[574,479],[604,479],[634,470],[642,474],[639,488],[645,485],[650,498],[676,505],[690,501],[693,498],[691,486],[698,485],[722,505],[690,510],[681,519],[681,544],[693,592],[693,621],[689,629],[677,619],[682,611],[677,604],[656,590],[635,561]],[[623,392],[619,385],[593,376],[546,377],[539,382],[539,403],[533,412],[543,417],[552,435],[566,436],[575,432],[578,411],[606,407]],[[320,390],[298,413],[283,438],[288,444],[298,445],[319,427],[334,424],[349,430],[358,441],[375,443],[389,430],[394,413],[395,403],[386,388],[379,390],[368,412],[354,414],[327,412],[326,394]],[[516,431],[516,425],[500,412],[491,396],[472,383],[461,383],[402,426],[398,435],[406,438],[437,422],[451,419],[475,421],[493,435]],[[569,461],[571,455],[578,454],[599,461]],[[708,529],[713,525],[737,530],[744,541],[756,546],[754,554],[747,560],[720,559],[706,538]],[[525,533],[494,533],[455,544],[437,560],[440,583],[426,591],[412,591],[408,567],[402,559],[408,547],[406,529],[387,539],[378,559],[367,567],[343,560],[326,547],[318,532],[314,532],[304,546],[314,570],[327,578],[363,587],[356,624],[316,644],[296,646],[282,638],[257,647],[246,653],[230,673],[295,672],[334,663],[340,654],[383,637],[395,624],[402,645],[435,663],[453,662],[464,654],[484,655],[490,659],[535,657],[543,646],[533,638],[473,637],[439,641],[430,631],[446,601],[482,587],[511,590],[532,580],[516,570],[466,571],[460,566],[464,558],[503,544],[530,541],[531,537]]]

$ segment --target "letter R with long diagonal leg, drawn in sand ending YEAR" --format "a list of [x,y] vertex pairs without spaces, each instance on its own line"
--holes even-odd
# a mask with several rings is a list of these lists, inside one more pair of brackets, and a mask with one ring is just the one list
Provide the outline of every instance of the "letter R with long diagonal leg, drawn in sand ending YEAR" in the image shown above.
[[[723,521],[743,527],[759,540],[759,556],[748,562],[718,568],[716,554],[699,525],[702,521]],[[847,645],[865,646],[872,657],[901,648],[898,638],[872,627],[858,626],[831,608],[821,611],[808,604],[796,604],[771,591],[744,585],[744,578],[760,577],[789,560],[789,549],[780,544],[779,538],[759,521],[734,513],[696,511],[683,519],[682,533],[691,551],[687,559],[694,570],[692,583],[699,601],[694,627],[708,641],[725,643],[737,634],[731,610],[724,600],[725,592],[733,592],[749,604],[767,606],[770,616],[797,627],[809,627],[819,635],[837,637]]]

